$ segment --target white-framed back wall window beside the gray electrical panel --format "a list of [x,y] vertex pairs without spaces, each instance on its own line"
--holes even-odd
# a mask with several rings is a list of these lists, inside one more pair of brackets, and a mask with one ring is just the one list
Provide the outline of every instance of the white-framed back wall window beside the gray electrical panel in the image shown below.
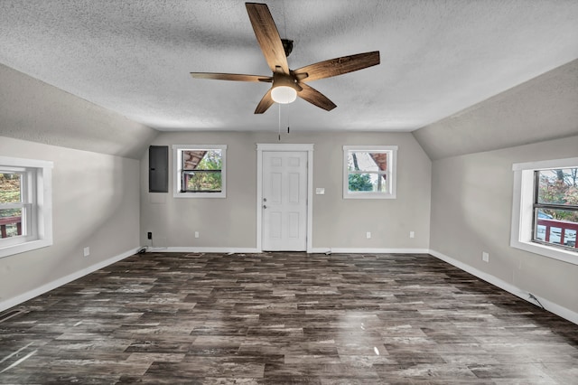
[[225,198],[227,146],[172,146],[175,164],[173,196]]

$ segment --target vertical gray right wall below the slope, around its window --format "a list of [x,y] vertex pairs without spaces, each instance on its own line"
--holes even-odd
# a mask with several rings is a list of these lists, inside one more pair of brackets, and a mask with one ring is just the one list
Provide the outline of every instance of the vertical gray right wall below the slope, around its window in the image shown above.
[[578,312],[578,265],[509,246],[512,164],[576,155],[578,136],[572,136],[434,161],[430,248]]

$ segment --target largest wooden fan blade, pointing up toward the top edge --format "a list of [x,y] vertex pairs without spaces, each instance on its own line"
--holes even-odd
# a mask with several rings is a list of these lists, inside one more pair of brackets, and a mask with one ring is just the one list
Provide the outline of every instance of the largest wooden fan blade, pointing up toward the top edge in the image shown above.
[[275,67],[281,67],[289,74],[289,65],[283,48],[283,42],[266,4],[245,3],[249,20],[255,31],[256,41],[265,55],[265,60],[272,72]]

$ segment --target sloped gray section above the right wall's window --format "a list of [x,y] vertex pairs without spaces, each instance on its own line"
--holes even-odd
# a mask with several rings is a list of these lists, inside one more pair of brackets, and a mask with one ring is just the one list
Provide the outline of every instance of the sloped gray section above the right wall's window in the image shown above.
[[414,131],[432,160],[574,135],[578,61]]

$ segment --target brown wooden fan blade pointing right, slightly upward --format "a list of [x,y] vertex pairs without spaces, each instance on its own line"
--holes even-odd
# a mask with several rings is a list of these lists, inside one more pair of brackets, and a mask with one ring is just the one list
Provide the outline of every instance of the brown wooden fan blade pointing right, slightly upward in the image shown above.
[[[331,78],[331,76],[338,76],[344,73],[353,72],[354,70],[363,70],[374,65],[379,64],[379,52],[365,52],[357,55],[341,56],[340,58],[330,59],[329,61],[320,61],[294,70],[293,73],[297,77],[304,74],[307,75],[301,81],[312,81],[324,78]],[[299,78],[298,78],[299,79]]]

